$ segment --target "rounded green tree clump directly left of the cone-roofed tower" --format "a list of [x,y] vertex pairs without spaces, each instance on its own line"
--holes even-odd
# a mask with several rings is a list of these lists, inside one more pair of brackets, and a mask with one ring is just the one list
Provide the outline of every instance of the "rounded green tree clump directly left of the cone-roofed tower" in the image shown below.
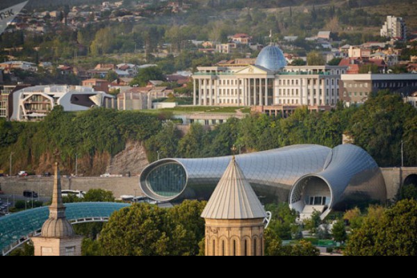
[[172,209],[147,204],[114,213],[99,244],[110,256],[195,256],[204,236],[205,204],[185,202]]

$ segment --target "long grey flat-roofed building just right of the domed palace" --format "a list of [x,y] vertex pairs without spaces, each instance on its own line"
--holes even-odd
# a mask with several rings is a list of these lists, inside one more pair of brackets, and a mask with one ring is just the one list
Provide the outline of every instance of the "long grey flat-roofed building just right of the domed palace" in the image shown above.
[[390,90],[404,96],[417,91],[417,74],[343,74],[340,99],[347,106],[363,104],[380,90]]

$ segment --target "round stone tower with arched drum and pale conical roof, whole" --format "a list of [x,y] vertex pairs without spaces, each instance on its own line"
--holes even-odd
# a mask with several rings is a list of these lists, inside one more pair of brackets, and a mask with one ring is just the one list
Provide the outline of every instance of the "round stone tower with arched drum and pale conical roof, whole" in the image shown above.
[[263,256],[267,213],[233,158],[202,213],[206,256]]

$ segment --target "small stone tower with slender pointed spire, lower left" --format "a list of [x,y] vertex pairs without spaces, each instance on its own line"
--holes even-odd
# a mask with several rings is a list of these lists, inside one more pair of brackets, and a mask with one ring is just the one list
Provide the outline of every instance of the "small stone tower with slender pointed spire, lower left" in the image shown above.
[[56,163],[54,194],[49,206],[49,219],[40,237],[32,238],[35,256],[81,256],[83,238],[76,236],[72,224],[65,217],[59,165]]

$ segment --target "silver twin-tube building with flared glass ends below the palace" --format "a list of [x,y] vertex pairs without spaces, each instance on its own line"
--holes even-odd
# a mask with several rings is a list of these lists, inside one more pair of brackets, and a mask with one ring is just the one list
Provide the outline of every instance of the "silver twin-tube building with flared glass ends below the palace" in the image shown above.
[[[209,199],[231,157],[164,159],[140,176],[143,193],[158,201]],[[302,213],[306,206],[323,213],[346,204],[386,200],[386,186],[377,163],[363,149],[341,145],[295,145],[236,156],[259,197],[286,202]]]

